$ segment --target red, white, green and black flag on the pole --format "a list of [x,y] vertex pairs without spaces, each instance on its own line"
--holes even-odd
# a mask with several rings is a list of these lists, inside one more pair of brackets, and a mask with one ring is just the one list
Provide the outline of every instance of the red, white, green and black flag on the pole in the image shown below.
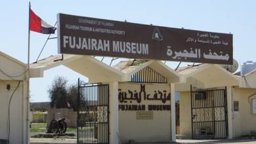
[[56,27],[47,24],[45,21],[39,18],[39,16],[37,16],[32,9],[30,9],[30,31],[51,34],[54,33],[55,30]]

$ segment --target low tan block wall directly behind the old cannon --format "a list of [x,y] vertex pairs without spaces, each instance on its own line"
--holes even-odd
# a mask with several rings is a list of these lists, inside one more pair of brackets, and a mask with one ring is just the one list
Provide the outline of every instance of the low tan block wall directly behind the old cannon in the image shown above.
[[68,127],[77,126],[77,112],[73,109],[47,109],[47,126],[53,119],[66,118],[65,122]]

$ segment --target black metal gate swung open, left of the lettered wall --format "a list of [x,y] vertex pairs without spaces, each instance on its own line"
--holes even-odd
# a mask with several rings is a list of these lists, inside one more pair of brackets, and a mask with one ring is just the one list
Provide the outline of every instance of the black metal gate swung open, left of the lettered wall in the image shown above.
[[78,80],[77,143],[109,143],[109,85]]

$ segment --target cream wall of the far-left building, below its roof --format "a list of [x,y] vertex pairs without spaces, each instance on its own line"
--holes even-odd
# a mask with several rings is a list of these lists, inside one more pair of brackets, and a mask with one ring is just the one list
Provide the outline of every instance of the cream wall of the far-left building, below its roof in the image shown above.
[[[7,90],[7,84],[11,84],[11,90]],[[0,139],[8,139],[8,105],[11,94],[17,84],[17,81],[0,81]],[[12,96],[10,109],[11,144],[26,142],[26,86],[26,82],[21,82]]]

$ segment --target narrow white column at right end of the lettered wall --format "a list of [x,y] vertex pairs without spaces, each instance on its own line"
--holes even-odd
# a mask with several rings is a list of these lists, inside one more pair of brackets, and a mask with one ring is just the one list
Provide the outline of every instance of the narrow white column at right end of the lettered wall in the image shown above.
[[176,142],[175,85],[171,84],[171,141]]

